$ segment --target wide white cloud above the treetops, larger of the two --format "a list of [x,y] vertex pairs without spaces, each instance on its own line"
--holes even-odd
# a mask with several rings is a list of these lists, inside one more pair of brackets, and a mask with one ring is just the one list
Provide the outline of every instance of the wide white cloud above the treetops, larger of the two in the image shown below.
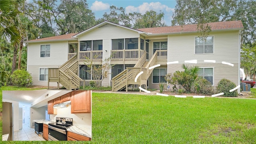
[[168,6],[161,4],[160,2],[144,2],[143,4],[141,4],[138,7],[134,7],[134,6],[127,6],[125,8],[126,13],[129,12],[140,12],[141,14],[145,14],[146,11],[148,10],[154,10],[156,12],[159,12],[160,10],[166,11],[166,12],[174,12],[174,8],[169,8]]

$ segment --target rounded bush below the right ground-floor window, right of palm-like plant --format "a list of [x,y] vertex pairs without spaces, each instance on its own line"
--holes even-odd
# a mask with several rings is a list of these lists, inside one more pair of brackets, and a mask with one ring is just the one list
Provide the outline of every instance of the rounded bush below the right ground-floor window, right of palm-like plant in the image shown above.
[[194,92],[197,94],[198,93],[208,94],[208,95],[213,94],[212,84],[208,80],[206,80],[202,77],[196,78],[193,85],[194,85]]

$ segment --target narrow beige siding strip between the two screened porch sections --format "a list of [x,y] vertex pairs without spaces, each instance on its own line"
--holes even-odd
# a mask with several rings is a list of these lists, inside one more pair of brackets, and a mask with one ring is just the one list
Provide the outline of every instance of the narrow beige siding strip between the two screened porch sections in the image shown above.
[[[102,40],[102,64],[106,62],[105,60],[110,57],[110,46],[111,46],[110,39],[103,39]],[[110,61],[109,61],[110,62]],[[102,86],[109,86],[110,85],[110,77],[111,71],[108,70],[108,76],[102,80]],[[105,74],[105,72],[103,72]]]

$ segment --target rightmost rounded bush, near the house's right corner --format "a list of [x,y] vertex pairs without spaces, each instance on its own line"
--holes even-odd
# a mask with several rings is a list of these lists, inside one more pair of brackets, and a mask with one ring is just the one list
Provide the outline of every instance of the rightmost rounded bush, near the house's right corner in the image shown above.
[[221,93],[224,92],[224,96],[226,97],[236,97],[238,95],[237,91],[229,92],[229,90],[233,89],[236,87],[236,84],[234,82],[231,82],[228,79],[222,79],[218,83],[217,86],[217,92]]

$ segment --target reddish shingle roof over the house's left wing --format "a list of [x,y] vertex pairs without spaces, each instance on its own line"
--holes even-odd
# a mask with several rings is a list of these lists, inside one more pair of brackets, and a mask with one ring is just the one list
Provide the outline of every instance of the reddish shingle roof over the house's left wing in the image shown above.
[[35,40],[28,40],[25,41],[26,42],[41,42],[41,41],[52,41],[52,40],[68,40],[68,39],[74,39],[72,38],[72,36],[74,36],[77,33],[71,33],[71,34],[64,34],[64,35],[60,35],[60,36],[52,36],[52,37],[48,37],[48,38],[39,38],[39,39],[35,39]]

